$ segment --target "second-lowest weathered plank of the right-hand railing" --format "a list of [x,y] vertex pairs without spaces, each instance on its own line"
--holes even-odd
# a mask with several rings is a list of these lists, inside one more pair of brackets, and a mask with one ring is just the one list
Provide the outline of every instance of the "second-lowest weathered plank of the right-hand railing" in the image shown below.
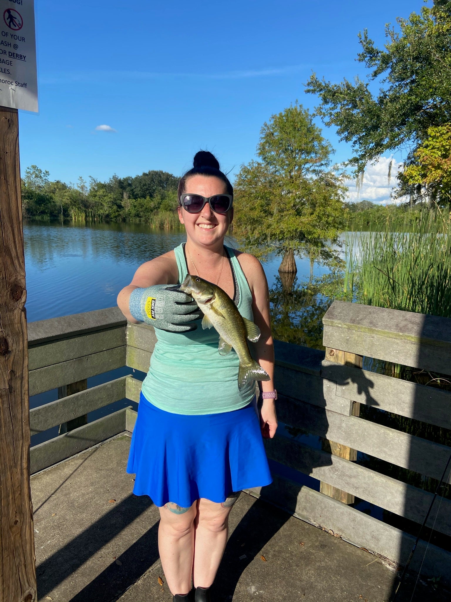
[[[308,474],[336,488],[343,488],[362,500],[390,510],[399,516],[422,523],[428,512],[433,494],[407,485],[370,468],[360,466],[323,450],[314,450],[307,445],[292,441],[284,436],[265,440],[268,458],[290,468]],[[435,512],[427,525],[434,525]],[[440,512],[435,521],[436,530],[451,535],[451,501],[441,500]]]

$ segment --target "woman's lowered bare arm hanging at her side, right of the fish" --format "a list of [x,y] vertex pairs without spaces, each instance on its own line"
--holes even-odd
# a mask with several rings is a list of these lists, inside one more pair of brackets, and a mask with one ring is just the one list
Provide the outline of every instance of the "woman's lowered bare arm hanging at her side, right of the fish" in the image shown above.
[[[237,256],[251,289],[254,323],[257,324],[261,333],[257,343],[254,343],[256,359],[271,377],[271,380],[262,380],[260,386],[263,391],[274,391],[274,343],[271,335],[268,281],[266,281],[265,272],[258,259],[247,253],[237,253]],[[260,415],[263,436],[265,438],[274,437],[277,429],[274,399],[263,400]]]

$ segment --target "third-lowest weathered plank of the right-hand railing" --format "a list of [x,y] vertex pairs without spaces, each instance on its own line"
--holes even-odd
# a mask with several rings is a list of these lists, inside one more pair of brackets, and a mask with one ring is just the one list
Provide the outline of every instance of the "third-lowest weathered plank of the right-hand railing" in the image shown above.
[[[283,397],[277,402],[277,416],[281,422],[312,435],[339,441],[359,452],[433,479],[441,478],[451,453],[446,445]],[[451,483],[451,477],[448,482]]]

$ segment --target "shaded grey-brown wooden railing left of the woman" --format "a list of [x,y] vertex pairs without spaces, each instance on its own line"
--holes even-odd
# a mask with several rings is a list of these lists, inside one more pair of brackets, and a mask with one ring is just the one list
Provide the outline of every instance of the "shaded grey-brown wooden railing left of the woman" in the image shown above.
[[[126,326],[118,308],[28,324],[30,396],[124,367]],[[129,399],[127,389],[133,390],[134,380],[124,376],[31,409],[31,435]],[[105,441],[126,427],[124,408],[34,445],[30,450],[31,473]]]

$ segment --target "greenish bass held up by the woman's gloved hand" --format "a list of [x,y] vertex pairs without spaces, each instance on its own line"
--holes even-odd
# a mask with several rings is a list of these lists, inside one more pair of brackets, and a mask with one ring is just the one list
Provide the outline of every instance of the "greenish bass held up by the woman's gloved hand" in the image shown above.
[[238,389],[241,391],[253,380],[270,380],[269,374],[251,357],[247,340],[256,343],[260,329],[244,318],[229,295],[212,282],[188,274],[179,290],[189,294],[204,314],[203,329],[214,327],[219,333],[219,355],[235,349],[239,358]]

